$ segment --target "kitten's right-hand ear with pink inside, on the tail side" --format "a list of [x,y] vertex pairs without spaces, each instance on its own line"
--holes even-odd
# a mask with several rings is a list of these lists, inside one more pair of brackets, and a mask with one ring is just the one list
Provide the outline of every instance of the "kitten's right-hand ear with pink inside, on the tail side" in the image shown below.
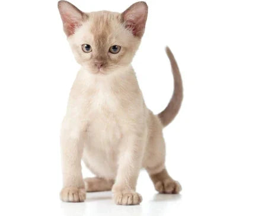
[[125,27],[131,30],[134,36],[142,37],[148,17],[148,5],[146,2],[136,2],[121,15]]

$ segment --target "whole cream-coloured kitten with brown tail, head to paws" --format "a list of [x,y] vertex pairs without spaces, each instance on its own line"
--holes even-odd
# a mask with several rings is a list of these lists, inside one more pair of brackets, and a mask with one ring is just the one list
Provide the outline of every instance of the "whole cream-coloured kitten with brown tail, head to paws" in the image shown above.
[[[69,95],[62,123],[61,151],[65,202],[82,202],[86,191],[113,191],[120,205],[136,205],[139,170],[144,167],[155,189],[180,192],[165,169],[162,128],[180,109],[183,89],[174,56],[174,95],[158,115],[146,108],[131,62],[145,30],[148,7],[137,2],[122,14],[84,13],[66,1],[58,4],[69,44],[81,69]],[[81,160],[95,174],[82,178]]]

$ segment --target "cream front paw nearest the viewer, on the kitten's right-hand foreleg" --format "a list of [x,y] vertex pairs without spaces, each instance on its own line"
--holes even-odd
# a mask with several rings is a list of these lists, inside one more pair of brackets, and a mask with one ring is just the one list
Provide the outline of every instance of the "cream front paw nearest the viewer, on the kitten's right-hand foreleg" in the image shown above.
[[142,196],[131,190],[114,192],[114,202],[117,205],[139,205],[142,202]]

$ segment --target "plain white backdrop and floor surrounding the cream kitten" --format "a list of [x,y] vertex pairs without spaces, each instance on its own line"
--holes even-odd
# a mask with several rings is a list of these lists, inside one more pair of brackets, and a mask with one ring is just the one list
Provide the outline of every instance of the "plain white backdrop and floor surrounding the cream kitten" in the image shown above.
[[[133,2],[72,1],[83,11],[119,12]],[[2,1],[0,215],[256,214],[255,1],[146,2],[146,32],[133,66],[155,113],[172,94],[166,45],[180,66],[184,102],[164,135],[181,195],[158,195],[142,171],[139,206],[114,205],[110,192],[88,194],[81,204],[59,201],[60,123],[79,66],[57,1]]]

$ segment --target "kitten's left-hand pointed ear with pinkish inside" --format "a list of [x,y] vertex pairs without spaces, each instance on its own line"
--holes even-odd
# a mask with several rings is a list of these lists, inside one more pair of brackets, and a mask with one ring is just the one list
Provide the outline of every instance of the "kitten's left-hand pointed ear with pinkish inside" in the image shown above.
[[66,36],[71,36],[82,25],[84,13],[67,1],[59,1],[58,8]]

